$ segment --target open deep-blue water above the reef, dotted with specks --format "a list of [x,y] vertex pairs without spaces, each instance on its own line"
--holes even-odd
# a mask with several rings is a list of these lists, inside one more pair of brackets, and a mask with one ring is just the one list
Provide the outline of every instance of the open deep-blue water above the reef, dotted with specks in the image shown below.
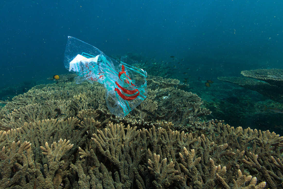
[[1,86],[67,73],[68,35],[110,57],[173,55],[227,73],[282,68],[282,8],[279,0],[2,1]]

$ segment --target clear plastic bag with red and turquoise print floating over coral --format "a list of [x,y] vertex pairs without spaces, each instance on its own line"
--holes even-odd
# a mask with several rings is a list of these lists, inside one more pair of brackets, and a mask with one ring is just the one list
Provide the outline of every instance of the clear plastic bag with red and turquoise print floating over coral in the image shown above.
[[64,66],[78,75],[76,83],[99,82],[107,89],[106,104],[110,112],[125,117],[147,97],[146,71],[107,57],[96,47],[68,36]]

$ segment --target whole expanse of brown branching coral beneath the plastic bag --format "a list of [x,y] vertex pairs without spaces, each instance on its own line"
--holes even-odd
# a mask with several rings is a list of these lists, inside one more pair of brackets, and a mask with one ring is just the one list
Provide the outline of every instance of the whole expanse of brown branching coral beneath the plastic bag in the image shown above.
[[283,137],[205,121],[179,82],[148,83],[125,118],[99,84],[39,85],[5,102],[0,188],[283,188]]

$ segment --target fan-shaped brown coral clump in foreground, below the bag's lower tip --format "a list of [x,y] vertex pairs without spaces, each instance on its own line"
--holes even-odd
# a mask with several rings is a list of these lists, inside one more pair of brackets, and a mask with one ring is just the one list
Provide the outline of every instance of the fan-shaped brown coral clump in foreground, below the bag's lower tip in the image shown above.
[[[134,168],[145,156],[142,150],[145,148],[145,131],[136,131],[136,127],[128,125],[125,134],[123,125],[111,123],[109,127],[104,129],[104,132],[98,130],[98,134],[93,134],[92,139],[100,153],[119,169],[121,183],[129,185],[134,179]],[[123,143],[120,143],[119,139],[122,139]]]

